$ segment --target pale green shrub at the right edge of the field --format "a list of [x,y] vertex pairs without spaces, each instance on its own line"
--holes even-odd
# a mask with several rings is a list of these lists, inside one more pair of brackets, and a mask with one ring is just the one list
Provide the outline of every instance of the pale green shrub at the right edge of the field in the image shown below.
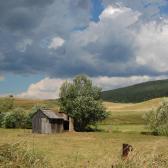
[[163,101],[156,110],[145,114],[144,118],[152,132],[168,136],[168,101]]

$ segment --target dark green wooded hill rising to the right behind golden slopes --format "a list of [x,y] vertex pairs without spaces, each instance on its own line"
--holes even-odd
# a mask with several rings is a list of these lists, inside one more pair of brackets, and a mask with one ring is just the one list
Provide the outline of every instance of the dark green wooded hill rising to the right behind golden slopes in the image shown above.
[[119,103],[138,103],[153,98],[168,97],[168,79],[103,91],[101,96],[104,101]]

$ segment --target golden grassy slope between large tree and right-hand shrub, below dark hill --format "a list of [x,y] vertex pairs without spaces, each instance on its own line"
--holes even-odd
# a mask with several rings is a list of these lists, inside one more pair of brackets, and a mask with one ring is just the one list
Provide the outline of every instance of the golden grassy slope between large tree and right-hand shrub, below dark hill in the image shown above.
[[157,108],[163,98],[157,98],[142,103],[111,103],[104,102],[107,111],[109,111],[109,117],[102,122],[106,125],[123,125],[123,124],[144,124],[143,116],[151,109]]

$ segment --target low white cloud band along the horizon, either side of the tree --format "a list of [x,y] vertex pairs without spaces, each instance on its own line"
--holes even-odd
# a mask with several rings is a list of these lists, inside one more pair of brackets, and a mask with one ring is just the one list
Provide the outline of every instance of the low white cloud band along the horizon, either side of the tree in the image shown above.
[[[151,80],[166,79],[168,76],[130,76],[130,77],[107,77],[99,76],[90,78],[93,84],[101,87],[103,90],[116,89],[136,83],[142,83]],[[72,79],[66,79],[72,81]],[[44,78],[43,80],[31,84],[27,91],[20,93],[17,97],[33,98],[33,99],[55,99],[59,97],[59,91],[65,79],[60,78]]]

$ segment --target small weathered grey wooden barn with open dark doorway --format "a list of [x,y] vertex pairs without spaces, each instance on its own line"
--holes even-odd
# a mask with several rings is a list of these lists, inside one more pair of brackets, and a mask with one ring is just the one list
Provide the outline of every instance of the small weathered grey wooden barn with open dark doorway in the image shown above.
[[41,134],[73,130],[73,120],[63,112],[39,109],[32,118],[32,132]]

